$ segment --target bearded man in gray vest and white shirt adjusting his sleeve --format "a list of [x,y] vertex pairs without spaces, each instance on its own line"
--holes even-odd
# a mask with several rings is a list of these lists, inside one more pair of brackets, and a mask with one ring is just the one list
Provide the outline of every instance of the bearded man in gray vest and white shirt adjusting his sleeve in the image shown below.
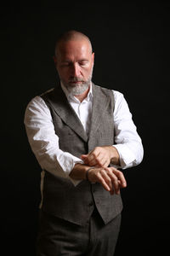
[[120,92],[91,81],[94,53],[82,32],[65,32],[54,63],[60,84],[26,108],[32,151],[42,167],[38,256],[113,255],[126,180],[141,139]]

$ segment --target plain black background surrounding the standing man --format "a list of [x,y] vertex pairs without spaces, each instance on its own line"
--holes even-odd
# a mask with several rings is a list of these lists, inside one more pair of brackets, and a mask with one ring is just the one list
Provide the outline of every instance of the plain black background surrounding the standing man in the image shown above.
[[124,94],[144,144],[143,162],[124,171],[116,256],[168,253],[169,15],[164,1],[42,1],[1,8],[3,255],[35,255],[40,167],[23,119],[31,98],[54,87],[54,40],[68,29],[91,38],[93,81]]

